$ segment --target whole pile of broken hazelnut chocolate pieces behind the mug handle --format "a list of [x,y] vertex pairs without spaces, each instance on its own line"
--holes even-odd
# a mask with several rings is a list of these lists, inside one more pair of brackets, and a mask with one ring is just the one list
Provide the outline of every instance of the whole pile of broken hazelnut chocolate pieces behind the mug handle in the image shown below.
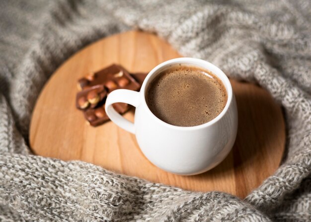
[[[91,126],[99,126],[109,120],[105,112],[107,94],[120,88],[138,91],[146,76],[146,73],[129,74],[119,65],[89,73],[78,80],[76,106],[83,110],[84,118]],[[120,114],[129,109],[126,103],[115,103],[112,106]]]

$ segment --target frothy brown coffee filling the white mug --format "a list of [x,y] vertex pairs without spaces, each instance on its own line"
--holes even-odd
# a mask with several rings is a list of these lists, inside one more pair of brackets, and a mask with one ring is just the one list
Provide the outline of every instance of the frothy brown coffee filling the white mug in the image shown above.
[[215,119],[227,103],[222,81],[192,66],[173,66],[156,75],[146,92],[149,109],[160,120],[182,127]]

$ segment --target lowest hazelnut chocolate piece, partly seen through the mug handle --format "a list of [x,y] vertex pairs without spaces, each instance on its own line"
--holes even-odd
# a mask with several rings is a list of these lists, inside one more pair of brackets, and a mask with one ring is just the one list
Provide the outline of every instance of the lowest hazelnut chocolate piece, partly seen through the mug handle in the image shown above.
[[[126,103],[115,103],[113,108],[120,114],[125,113],[129,109]],[[96,127],[109,120],[105,112],[105,104],[100,104],[96,108],[84,110],[84,118],[90,123],[91,126]]]

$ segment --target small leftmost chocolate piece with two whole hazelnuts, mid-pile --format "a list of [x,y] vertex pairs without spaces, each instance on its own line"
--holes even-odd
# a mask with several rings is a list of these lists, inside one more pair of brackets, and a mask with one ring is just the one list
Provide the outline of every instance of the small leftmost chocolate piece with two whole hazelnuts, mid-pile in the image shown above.
[[103,85],[95,85],[78,92],[76,106],[78,109],[94,108],[107,95]]

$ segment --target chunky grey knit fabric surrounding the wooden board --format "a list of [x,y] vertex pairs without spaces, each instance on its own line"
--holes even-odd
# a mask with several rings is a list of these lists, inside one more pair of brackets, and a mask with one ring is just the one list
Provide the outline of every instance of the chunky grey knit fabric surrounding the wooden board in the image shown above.
[[[310,24],[309,0],[0,1],[0,221],[311,221]],[[49,76],[83,46],[133,28],[257,82],[284,107],[284,161],[245,200],[30,154]]]

